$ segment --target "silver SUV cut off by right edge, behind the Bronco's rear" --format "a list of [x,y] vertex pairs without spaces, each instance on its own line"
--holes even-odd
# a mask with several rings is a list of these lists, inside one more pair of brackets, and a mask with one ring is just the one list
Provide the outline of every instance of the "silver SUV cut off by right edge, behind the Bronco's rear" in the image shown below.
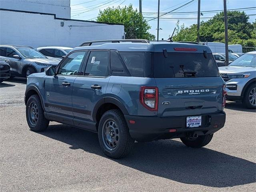
[[219,67],[226,81],[228,100],[242,100],[249,109],[256,109],[256,51],[238,57],[226,67]]

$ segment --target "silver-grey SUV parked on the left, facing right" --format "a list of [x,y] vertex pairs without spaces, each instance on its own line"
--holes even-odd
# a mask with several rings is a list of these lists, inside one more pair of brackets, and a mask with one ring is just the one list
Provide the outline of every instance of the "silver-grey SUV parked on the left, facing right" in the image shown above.
[[0,59],[10,65],[11,77],[26,77],[32,73],[43,72],[44,69],[59,63],[27,46],[0,45]]

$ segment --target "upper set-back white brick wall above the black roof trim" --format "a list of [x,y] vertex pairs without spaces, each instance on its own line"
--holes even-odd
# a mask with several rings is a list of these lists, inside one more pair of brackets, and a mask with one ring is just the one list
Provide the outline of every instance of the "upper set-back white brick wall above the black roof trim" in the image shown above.
[[70,0],[0,0],[0,8],[56,14],[70,19]]

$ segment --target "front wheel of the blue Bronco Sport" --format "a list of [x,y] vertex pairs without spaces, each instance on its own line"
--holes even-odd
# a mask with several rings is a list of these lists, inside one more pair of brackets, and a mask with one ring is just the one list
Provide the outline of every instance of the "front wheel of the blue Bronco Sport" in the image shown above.
[[29,97],[26,105],[26,119],[32,131],[44,131],[48,127],[50,121],[44,117],[44,110],[38,95]]

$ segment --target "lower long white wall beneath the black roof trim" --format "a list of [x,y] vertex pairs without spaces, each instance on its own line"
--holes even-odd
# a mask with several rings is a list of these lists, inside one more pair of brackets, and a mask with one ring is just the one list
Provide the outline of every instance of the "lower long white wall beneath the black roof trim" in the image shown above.
[[[0,11],[0,44],[76,47],[89,40],[122,39],[124,26],[54,19],[52,15]],[[64,27],[60,26],[64,22]],[[73,27],[69,27],[69,26]],[[75,27],[84,26],[84,27]]]

